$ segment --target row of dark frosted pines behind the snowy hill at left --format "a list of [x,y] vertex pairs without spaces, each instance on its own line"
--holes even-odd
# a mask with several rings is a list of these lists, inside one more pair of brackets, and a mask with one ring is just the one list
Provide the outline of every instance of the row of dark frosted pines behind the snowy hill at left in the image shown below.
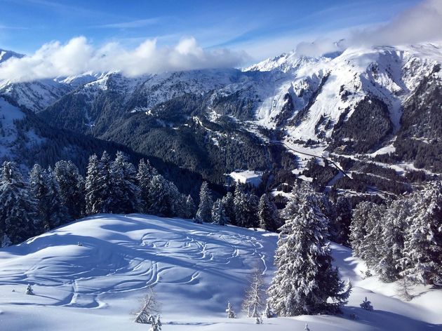
[[197,223],[234,224],[276,231],[281,226],[276,205],[267,194],[258,198],[237,185],[213,201],[203,182],[199,206],[181,194],[144,159],[138,169],[123,152],[112,160],[106,151],[88,161],[86,177],[72,161],[54,168],[35,164],[25,177],[18,163],[4,161],[0,170],[0,245],[20,243],[62,224],[98,213],[142,212],[194,219]]

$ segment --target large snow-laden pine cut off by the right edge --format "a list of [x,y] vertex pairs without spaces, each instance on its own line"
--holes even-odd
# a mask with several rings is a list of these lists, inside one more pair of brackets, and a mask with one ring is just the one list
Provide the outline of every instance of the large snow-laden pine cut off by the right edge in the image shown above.
[[442,283],[442,183],[429,182],[412,196],[401,276],[422,284]]

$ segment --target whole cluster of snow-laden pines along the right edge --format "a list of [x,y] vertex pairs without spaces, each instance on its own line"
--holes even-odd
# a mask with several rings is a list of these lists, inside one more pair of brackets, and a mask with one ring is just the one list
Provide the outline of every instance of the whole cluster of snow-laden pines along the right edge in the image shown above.
[[382,281],[442,283],[442,183],[386,204],[356,205],[350,226],[354,255]]

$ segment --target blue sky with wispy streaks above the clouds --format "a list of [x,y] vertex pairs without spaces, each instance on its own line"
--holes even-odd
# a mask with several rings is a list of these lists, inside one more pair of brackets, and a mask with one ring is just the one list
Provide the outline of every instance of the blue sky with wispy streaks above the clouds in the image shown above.
[[32,53],[43,43],[86,36],[159,46],[193,36],[206,49],[245,50],[260,60],[300,41],[340,39],[349,29],[388,22],[418,0],[0,0],[0,48]]

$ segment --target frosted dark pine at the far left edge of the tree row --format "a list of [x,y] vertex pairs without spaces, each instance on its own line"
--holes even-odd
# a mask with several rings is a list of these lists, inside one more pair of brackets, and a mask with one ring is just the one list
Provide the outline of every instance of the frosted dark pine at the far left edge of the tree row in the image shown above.
[[4,161],[0,173],[1,245],[20,243],[37,234],[36,203],[15,162]]

